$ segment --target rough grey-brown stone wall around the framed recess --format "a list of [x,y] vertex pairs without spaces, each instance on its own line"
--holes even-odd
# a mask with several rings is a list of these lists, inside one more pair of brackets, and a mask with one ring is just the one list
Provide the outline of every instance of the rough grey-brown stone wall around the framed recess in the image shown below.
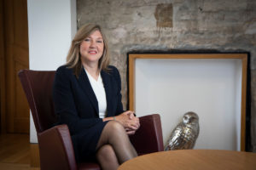
[[138,50],[247,51],[251,54],[251,145],[256,152],[255,0],[77,0],[78,26],[96,23],[108,36],[112,65],[127,102],[127,53]]

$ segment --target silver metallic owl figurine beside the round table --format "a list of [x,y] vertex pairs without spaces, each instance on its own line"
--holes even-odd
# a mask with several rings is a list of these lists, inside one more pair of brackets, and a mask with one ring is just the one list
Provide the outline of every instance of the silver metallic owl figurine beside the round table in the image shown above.
[[177,124],[165,146],[165,150],[189,150],[195,146],[199,134],[199,117],[195,112],[184,114],[183,121]]

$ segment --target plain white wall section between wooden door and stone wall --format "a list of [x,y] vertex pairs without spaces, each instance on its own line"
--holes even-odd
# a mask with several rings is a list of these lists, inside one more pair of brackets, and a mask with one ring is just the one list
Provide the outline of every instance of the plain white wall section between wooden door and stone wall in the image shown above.
[[[76,0],[27,0],[29,68],[52,71],[66,60],[75,32]],[[31,116],[31,143],[37,134]]]

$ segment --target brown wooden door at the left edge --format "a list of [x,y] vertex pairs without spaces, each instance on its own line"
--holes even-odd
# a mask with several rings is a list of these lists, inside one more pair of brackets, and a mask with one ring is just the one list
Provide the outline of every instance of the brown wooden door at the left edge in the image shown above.
[[[29,107],[18,71],[28,66],[28,26],[26,0],[3,1],[4,82],[2,132],[29,133]],[[2,94],[1,94],[2,95]],[[2,99],[2,98],[1,98]]]

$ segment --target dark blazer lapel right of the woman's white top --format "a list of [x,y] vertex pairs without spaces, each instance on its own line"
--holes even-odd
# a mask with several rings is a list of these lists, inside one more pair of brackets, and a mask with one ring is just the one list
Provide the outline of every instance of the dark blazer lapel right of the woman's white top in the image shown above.
[[112,86],[109,74],[105,71],[101,71],[102,82],[104,84],[106,98],[107,98],[107,116],[111,113],[111,94],[112,94]]

